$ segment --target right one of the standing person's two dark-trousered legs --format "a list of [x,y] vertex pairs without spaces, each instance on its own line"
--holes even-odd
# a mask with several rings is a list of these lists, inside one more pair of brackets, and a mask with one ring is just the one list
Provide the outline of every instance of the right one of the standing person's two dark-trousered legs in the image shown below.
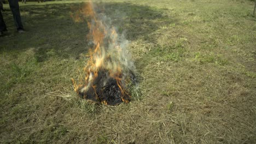
[[13,13],[14,22],[17,30],[23,30],[20,17],[19,1],[18,0],[9,0],[9,5],[11,12]]

